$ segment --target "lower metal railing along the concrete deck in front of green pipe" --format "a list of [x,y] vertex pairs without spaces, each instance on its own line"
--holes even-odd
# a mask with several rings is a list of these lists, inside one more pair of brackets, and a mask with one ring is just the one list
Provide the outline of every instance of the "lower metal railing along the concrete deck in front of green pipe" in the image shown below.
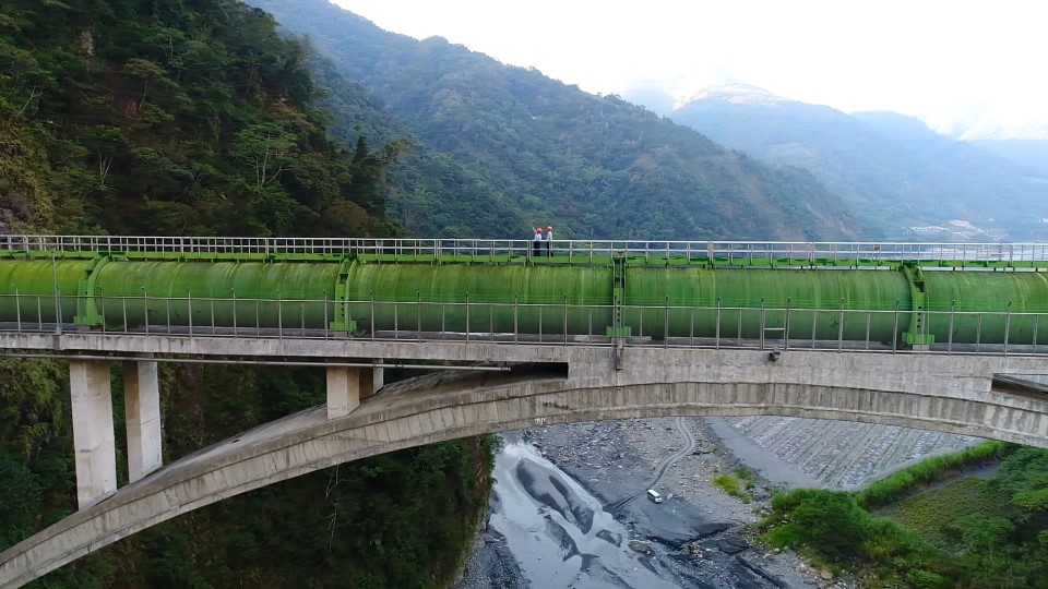
[[[86,326],[76,316],[87,298],[0,296],[0,333],[75,332],[97,335],[461,341],[552,346],[737,348],[762,350],[913,351],[903,329],[910,311],[800,306],[621,305],[626,337],[608,334],[610,303],[487,301],[334,301],[212,297],[98,296],[90,298],[104,321]],[[332,328],[336,306],[356,324]],[[920,351],[1048,354],[1048,313],[921,311],[922,333],[936,336]],[[374,326],[374,327],[372,327]],[[933,326],[933,327],[931,327]],[[956,335],[955,335],[956,334]]]

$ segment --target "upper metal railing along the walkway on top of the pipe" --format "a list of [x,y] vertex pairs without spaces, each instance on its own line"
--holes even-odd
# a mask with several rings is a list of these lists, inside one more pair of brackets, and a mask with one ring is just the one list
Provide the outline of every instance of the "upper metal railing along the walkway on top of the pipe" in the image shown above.
[[[492,239],[372,239],[372,238],[243,238],[156,236],[0,236],[0,253],[73,254],[123,252],[177,256],[345,256],[378,261],[498,261],[541,259],[546,243],[535,251],[531,240]],[[1046,243],[904,243],[904,242],[790,242],[790,241],[623,241],[556,240],[552,254],[570,262],[612,255],[666,262],[717,261],[746,264],[783,261],[809,264],[868,264],[897,261],[953,261],[961,263],[1048,262]]]

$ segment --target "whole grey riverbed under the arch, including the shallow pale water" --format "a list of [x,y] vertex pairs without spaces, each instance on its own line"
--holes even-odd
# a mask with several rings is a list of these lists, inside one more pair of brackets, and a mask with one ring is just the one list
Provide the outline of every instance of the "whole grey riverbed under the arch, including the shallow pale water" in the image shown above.
[[[886,471],[915,456],[974,443],[897,428],[783,419],[662,418],[508,433],[489,517],[453,587],[849,587],[848,579],[827,578],[788,551],[755,545],[748,525],[764,513],[771,492],[844,489],[872,477],[867,471],[874,467]],[[869,444],[854,449],[848,438],[880,441],[880,450],[871,457]],[[806,444],[823,456],[821,466],[797,450]],[[838,446],[847,452],[826,449]],[[712,483],[739,468],[759,481],[750,503]],[[665,502],[648,501],[648,488]]]

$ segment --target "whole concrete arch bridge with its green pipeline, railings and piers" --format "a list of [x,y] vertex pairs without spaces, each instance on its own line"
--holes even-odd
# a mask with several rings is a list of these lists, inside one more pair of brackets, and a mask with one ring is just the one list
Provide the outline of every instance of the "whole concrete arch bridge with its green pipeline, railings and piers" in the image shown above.
[[[534,424],[779,414],[1048,447],[1041,247],[564,242],[537,260],[526,243],[211,239],[39,238],[0,255],[2,353],[70,359],[81,507],[0,553],[0,586],[320,468]],[[315,364],[327,404],[164,466],[163,361]],[[433,362],[462,368],[383,386],[383,366]]]

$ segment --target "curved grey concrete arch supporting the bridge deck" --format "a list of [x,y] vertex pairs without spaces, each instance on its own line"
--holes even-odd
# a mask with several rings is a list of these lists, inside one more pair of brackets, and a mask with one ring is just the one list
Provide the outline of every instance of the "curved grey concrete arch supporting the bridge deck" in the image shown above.
[[[663,352],[663,353],[658,353]],[[226,497],[337,464],[536,424],[670,416],[779,414],[864,421],[1048,447],[1048,398],[990,390],[996,371],[1044,360],[706,350],[607,353],[549,369],[441,373],[389,385],[347,417],[314,407],[168,465],[0,553],[19,587],[116,540]],[[966,370],[962,370],[966,366]],[[894,372],[881,373],[890,368]],[[1002,370],[1004,369],[1004,370]],[[874,386],[870,375],[877,376]],[[734,377],[728,377],[734,375]],[[866,383],[866,384],[864,384]]]

